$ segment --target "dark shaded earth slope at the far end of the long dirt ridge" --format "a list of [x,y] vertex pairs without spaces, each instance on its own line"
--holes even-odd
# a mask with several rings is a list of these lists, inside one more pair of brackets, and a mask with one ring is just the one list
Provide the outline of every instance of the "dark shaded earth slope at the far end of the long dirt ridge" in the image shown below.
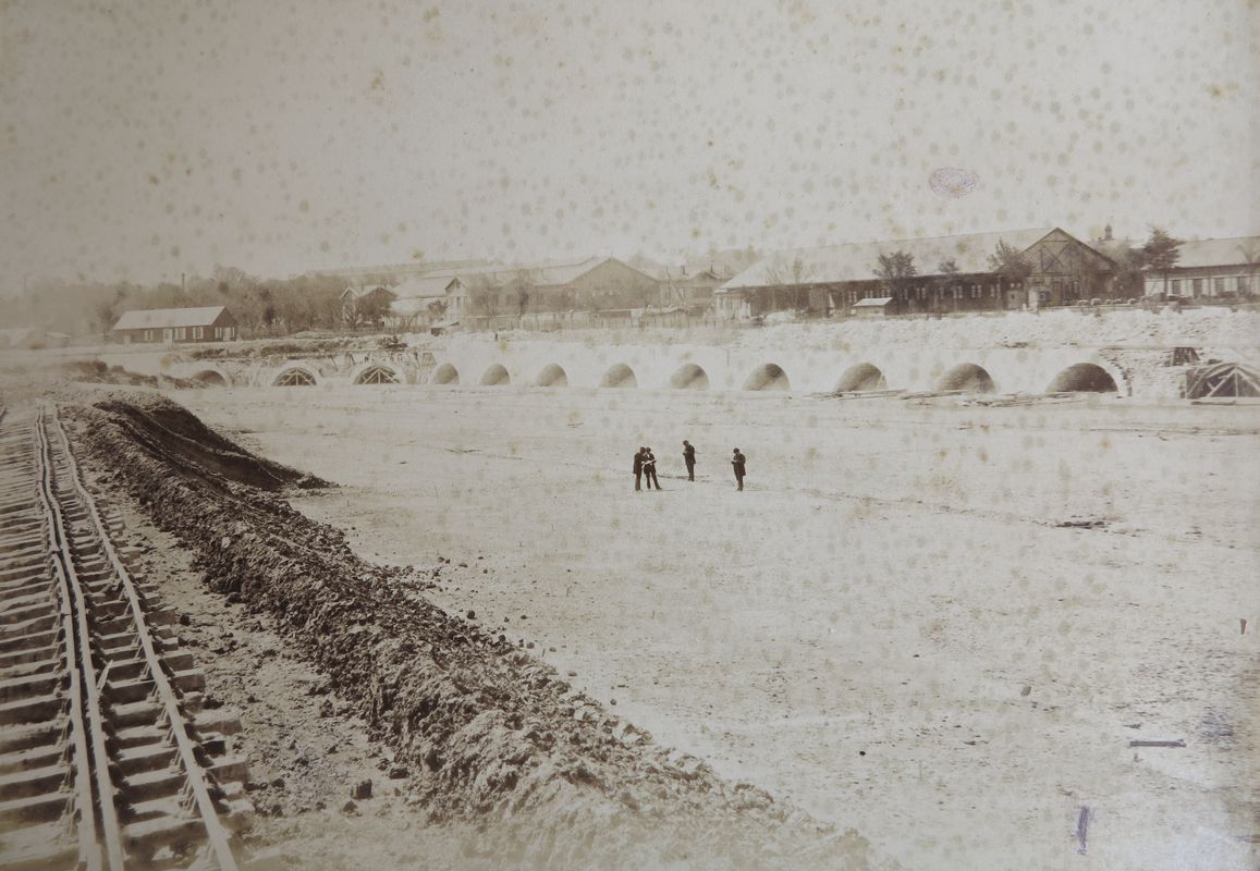
[[296,469],[255,456],[205,426],[183,406],[159,395],[111,397],[94,405],[110,412],[116,425],[127,431],[132,450],[146,450],[185,478],[205,479],[207,473],[213,473],[265,490],[328,485]]

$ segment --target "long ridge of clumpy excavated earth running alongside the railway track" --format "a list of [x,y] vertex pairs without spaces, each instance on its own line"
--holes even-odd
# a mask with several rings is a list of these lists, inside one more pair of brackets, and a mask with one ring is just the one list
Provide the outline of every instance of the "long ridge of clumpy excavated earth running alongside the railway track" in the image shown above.
[[[193,550],[212,587],[271,614],[331,677],[410,766],[433,819],[484,827],[479,858],[872,867],[856,833],[656,745],[503,635],[428,603],[428,581],[413,571],[359,560],[339,531],[228,478],[213,460],[231,442],[178,406],[111,401],[76,408],[73,420],[92,463]],[[195,434],[207,445],[194,447]],[[239,461],[263,463],[243,453]]]

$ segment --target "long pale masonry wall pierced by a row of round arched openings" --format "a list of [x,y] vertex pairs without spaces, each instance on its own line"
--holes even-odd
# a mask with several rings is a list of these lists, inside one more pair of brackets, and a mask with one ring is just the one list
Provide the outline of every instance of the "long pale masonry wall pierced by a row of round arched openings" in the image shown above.
[[795,395],[903,391],[1133,393],[1120,367],[1090,348],[903,347],[810,350],[714,345],[591,345],[460,340],[427,353],[262,362],[170,362],[163,374],[210,386],[432,384],[604,389],[769,391]]

